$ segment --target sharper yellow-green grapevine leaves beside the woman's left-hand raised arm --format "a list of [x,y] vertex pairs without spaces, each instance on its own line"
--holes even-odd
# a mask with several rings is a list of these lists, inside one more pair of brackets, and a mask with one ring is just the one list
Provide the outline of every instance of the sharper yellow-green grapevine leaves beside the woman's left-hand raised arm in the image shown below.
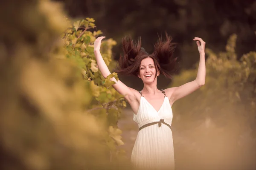
[[[74,22],[73,27],[68,28],[63,35],[64,48],[67,50],[66,57],[76,62],[84,80],[90,82],[93,99],[90,103],[92,107],[87,112],[96,115],[100,124],[105,124],[108,135],[105,136],[104,144],[109,147],[113,159],[119,156],[119,150],[116,150],[115,146],[124,144],[120,136],[122,131],[118,129],[117,122],[122,108],[126,107],[126,102],[112,87],[114,82],[110,79],[115,77],[118,80],[117,74],[113,73],[105,79],[99,72],[93,53],[93,42],[102,32],[91,31],[95,27],[92,18]],[[102,57],[108,66],[112,62],[113,45],[116,45],[116,42],[112,39],[102,42]]]

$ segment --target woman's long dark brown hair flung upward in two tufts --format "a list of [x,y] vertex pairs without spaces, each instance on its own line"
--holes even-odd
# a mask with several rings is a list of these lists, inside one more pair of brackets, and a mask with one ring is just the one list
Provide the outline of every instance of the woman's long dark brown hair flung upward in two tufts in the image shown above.
[[172,71],[175,69],[176,59],[173,57],[175,43],[172,42],[172,37],[166,33],[166,40],[159,40],[154,45],[154,52],[148,54],[141,47],[141,38],[137,43],[130,36],[122,39],[123,56],[120,55],[117,73],[126,75],[138,76],[140,73],[140,63],[143,59],[150,57],[154,60],[156,71],[160,71],[166,78],[172,78]]

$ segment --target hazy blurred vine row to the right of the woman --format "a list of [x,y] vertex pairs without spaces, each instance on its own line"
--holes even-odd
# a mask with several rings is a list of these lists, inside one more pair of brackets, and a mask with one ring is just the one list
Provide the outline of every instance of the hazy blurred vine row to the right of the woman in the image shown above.
[[[173,105],[174,127],[195,148],[188,157],[199,156],[198,164],[212,164],[213,169],[245,170],[255,165],[256,52],[238,57],[236,39],[236,34],[230,36],[224,52],[206,50],[205,85]],[[197,69],[182,71],[172,86],[196,75]]]

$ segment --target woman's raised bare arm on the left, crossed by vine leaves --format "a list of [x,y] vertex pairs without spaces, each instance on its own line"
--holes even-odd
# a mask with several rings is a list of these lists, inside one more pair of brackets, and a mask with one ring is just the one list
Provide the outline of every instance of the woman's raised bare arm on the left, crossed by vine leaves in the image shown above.
[[[102,55],[100,53],[101,42],[104,38],[105,37],[98,37],[95,40],[94,54],[96,57],[96,61],[97,61],[99,70],[101,71],[103,77],[106,78],[106,77],[108,77],[109,74],[111,74],[111,72],[109,71],[108,66],[104,62]],[[120,80],[116,81],[116,79],[114,77],[112,78],[112,81],[116,82],[113,85],[113,88],[115,88],[116,91],[118,91],[120,94],[122,94],[129,103],[133,102],[136,99],[134,94],[137,93],[137,91],[135,91],[133,88],[129,88],[124,83],[122,83]]]

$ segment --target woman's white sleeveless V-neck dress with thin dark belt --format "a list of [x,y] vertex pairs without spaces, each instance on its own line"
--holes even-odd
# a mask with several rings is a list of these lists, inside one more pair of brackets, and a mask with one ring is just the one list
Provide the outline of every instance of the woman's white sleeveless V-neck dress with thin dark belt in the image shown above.
[[[134,114],[133,119],[139,128],[148,123],[159,122],[160,119],[172,125],[172,107],[165,92],[162,93],[164,101],[159,111],[156,111],[143,95],[141,96],[138,113]],[[157,123],[139,130],[131,153],[131,162],[138,169],[174,170],[171,128],[163,123]]]

